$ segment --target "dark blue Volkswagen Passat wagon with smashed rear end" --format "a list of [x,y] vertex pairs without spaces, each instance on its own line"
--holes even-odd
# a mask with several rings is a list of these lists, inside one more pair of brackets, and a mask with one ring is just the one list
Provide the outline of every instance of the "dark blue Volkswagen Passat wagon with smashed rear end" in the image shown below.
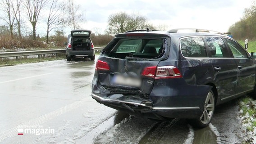
[[97,60],[92,98],[133,115],[205,127],[216,105],[255,95],[256,53],[223,33],[186,31],[115,35]]

